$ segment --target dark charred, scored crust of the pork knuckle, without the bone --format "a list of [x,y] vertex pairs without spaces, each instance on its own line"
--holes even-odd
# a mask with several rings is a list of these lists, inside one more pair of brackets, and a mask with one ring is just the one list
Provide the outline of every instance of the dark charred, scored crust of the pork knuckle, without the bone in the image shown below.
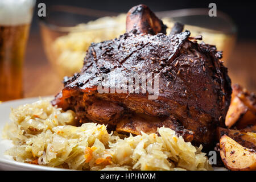
[[[216,127],[224,126],[232,89],[227,69],[219,60],[221,53],[214,46],[191,42],[189,35],[189,31],[168,36],[130,32],[119,39],[92,44],[81,72],[65,78],[65,88],[52,104],[76,110],[67,101],[85,94],[115,102],[127,113],[173,115],[185,129],[195,133],[195,143],[209,144]],[[162,92],[158,100],[148,100],[147,94],[97,93],[102,81],[98,76],[110,74],[110,69],[119,79],[135,73],[159,73]],[[88,121],[86,115],[80,121]]]

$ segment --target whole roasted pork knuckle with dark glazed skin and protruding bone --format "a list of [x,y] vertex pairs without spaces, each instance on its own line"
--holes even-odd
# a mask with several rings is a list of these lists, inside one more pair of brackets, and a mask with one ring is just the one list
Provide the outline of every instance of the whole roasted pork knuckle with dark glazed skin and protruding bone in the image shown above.
[[[133,7],[127,14],[126,34],[92,43],[81,72],[64,78],[64,89],[52,104],[74,110],[82,123],[108,124],[119,133],[155,133],[166,126],[186,141],[209,146],[216,127],[224,126],[232,92],[221,52],[198,44],[189,31],[159,33],[165,29],[145,5]],[[110,75],[110,70],[115,83],[127,75],[159,73],[159,97],[148,100],[148,93],[98,93],[101,73]]]

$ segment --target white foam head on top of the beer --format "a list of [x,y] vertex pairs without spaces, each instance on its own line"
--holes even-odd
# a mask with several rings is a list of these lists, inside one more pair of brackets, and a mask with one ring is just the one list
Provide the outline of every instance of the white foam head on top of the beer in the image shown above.
[[0,25],[30,23],[35,0],[0,0]]

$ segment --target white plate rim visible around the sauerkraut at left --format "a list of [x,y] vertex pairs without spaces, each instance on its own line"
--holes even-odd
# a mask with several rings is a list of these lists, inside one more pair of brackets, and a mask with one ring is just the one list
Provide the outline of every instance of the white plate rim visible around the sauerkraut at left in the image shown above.
[[[11,156],[5,155],[5,151],[13,146],[11,140],[2,139],[3,127],[5,127],[7,122],[10,122],[10,119],[9,119],[9,114],[11,112],[10,108],[11,107],[16,108],[19,105],[30,104],[38,100],[39,98],[35,97],[35,98],[26,98],[22,100],[3,102],[2,104],[0,104],[0,170],[22,170],[22,171],[67,170],[67,169],[60,169],[60,168],[38,166],[38,165],[28,164],[28,163],[20,163],[20,162],[14,161]],[[220,171],[220,170],[226,170],[226,168],[214,168],[214,170]]]

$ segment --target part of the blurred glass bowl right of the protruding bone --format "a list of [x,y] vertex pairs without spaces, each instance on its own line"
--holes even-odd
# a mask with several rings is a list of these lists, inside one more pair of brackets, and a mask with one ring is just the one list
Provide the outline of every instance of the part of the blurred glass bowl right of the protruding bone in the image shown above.
[[210,17],[208,11],[209,9],[181,9],[162,11],[156,15],[162,19],[170,19],[170,22],[185,24],[184,30],[191,31],[191,36],[202,35],[203,42],[215,45],[218,51],[223,52],[221,60],[227,65],[236,43],[237,27],[227,14],[217,11],[216,17]]

